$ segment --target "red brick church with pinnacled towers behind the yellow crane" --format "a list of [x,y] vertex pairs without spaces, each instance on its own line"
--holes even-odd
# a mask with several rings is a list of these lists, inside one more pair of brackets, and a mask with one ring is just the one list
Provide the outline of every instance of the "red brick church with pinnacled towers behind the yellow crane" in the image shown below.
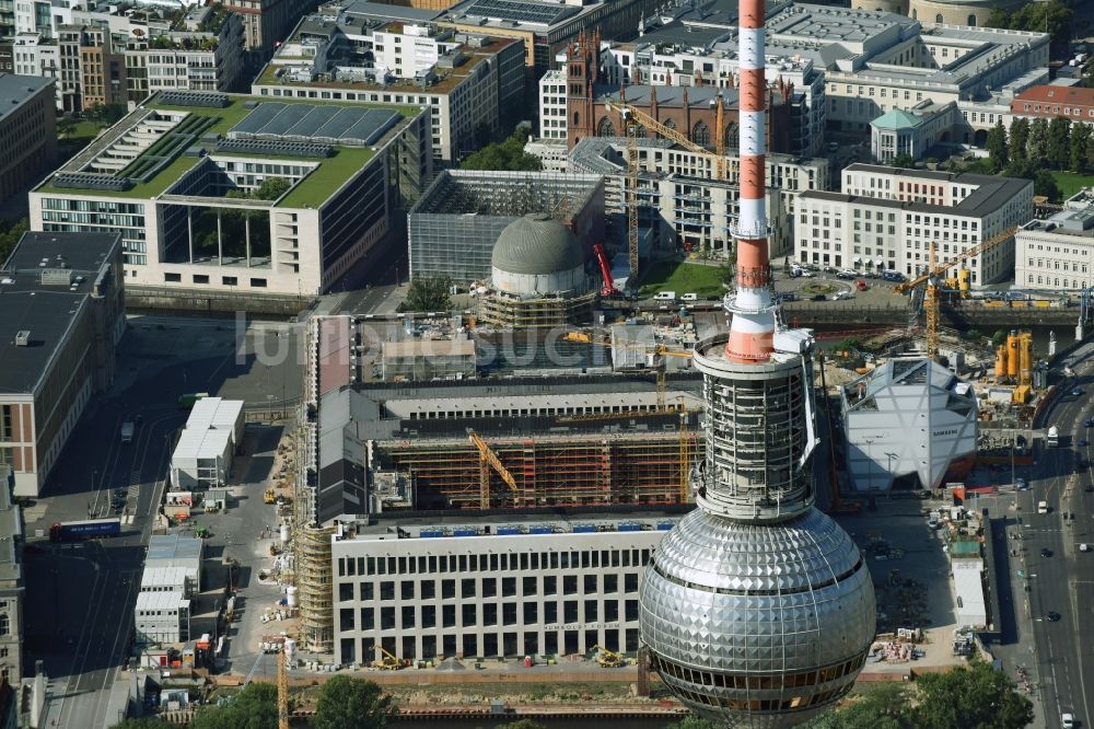
[[[736,89],[715,86],[610,86],[601,82],[600,33],[582,34],[567,53],[567,146],[573,149],[585,137],[621,137],[622,115],[613,102],[624,101],[657,121],[686,134],[688,139],[714,148],[721,134],[728,149],[737,147],[740,93]],[[767,149],[791,152],[791,114],[793,86],[780,84],[768,89]],[[718,99],[721,95],[723,128],[715,130]],[[612,108],[608,105],[612,104]],[[640,136],[644,136],[641,134]]]

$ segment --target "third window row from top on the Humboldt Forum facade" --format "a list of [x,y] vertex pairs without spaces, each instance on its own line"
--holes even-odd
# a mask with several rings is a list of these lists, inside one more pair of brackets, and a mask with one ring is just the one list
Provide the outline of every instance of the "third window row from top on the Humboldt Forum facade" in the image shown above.
[[[560,606],[561,605],[561,609]],[[338,611],[338,629],[348,630],[408,630],[412,628],[478,628],[480,626],[492,627],[494,625],[528,625],[538,626],[558,625],[561,623],[574,624],[617,623],[619,621],[619,601],[606,601],[602,605],[596,600],[584,601],[584,614],[579,612],[581,603],[578,600],[565,600],[558,602],[543,603],[543,615],[540,620],[539,603],[505,602],[498,610],[497,603],[486,603],[481,605],[464,604],[459,605],[459,621],[456,621],[456,605],[441,605],[441,620],[438,624],[438,606],[405,605],[403,608],[361,608],[360,623],[353,624],[354,611],[351,608],[344,608]],[[376,615],[380,615],[377,623]],[[396,623],[396,617],[399,621]],[[624,601],[622,617],[626,622],[633,623],[638,620],[638,600]]]

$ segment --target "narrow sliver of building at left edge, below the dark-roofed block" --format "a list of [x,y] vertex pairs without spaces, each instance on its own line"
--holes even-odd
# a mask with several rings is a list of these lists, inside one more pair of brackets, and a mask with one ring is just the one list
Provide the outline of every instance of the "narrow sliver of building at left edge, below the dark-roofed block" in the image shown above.
[[0,463],[0,681],[23,678],[23,514],[11,466]]

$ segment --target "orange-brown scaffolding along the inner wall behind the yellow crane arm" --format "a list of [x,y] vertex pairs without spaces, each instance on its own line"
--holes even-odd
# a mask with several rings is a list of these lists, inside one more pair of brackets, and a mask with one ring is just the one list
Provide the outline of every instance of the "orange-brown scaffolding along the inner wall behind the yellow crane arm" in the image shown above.
[[[686,414],[683,417],[694,417]],[[590,432],[579,436],[490,436],[490,450],[512,475],[515,489],[496,470],[487,472],[490,508],[668,505],[686,499],[682,477],[701,458],[701,441],[682,444],[676,414],[663,429]],[[694,443],[694,444],[693,444]],[[480,509],[481,454],[466,439],[379,441],[384,470],[410,472],[424,499],[417,508]]]

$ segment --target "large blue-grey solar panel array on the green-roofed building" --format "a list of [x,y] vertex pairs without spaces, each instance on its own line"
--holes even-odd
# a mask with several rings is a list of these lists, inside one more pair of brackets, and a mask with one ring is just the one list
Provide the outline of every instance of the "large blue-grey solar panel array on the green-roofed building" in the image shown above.
[[403,118],[387,108],[264,102],[228,132],[229,139],[369,146]]

